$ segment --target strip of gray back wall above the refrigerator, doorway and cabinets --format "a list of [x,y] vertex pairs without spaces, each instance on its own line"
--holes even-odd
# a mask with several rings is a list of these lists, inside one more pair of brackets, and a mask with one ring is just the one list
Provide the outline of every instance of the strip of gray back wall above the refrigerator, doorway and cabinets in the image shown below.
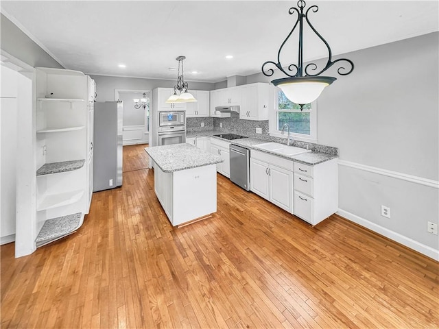
[[[153,90],[154,88],[173,88],[176,80],[141,79],[137,77],[108,77],[91,75],[96,82],[97,101],[114,101],[116,89]],[[188,82],[191,90],[213,90],[214,84],[204,82]]]

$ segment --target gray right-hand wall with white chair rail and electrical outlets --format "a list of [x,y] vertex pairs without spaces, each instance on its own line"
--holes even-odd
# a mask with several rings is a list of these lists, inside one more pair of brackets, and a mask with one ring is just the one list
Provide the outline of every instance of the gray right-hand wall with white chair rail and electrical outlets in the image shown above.
[[343,163],[340,214],[436,256],[438,236],[427,233],[427,221],[438,223],[438,188],[418,183],[437,184],[439,175],[438,39],[436,32],[346,53],[355,70],[327,73],[338,79],[318,99],[318,143],[338,147]]

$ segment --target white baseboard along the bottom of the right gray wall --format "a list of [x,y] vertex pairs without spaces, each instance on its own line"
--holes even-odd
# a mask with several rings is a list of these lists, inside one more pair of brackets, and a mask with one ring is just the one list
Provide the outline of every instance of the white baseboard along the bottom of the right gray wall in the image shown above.
[[381,234],[382,236],[385,236],[388,239],[401,243],[401,245],[405,245],[405,247],[414,249],[416,250],[416,252],[420,252],[421,254],[429,258],[439,261],[439,250],[429,247],[428,245],[424,245],[423,243],[414,241],[413,239],[410,239],[407,236],[403,236],[399,233],[389,230],[388,228],[383,228],[383,226],[379,226],[376,223],[372,223],[367,219],[354,215],[351,212],[348,212],[343,209],[339,209],[337,211],[337,215],[340,215],[348,219],[349,221],[353,221],[354,223],[357,223],[358,225],[363,226],[364,228],[368,228],[369,230],[377,232],[378,234]]

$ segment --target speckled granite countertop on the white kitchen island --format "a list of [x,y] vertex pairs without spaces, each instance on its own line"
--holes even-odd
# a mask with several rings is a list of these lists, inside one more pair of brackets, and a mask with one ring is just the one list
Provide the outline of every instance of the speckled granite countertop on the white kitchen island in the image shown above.
[[224,162],[221,157],[186,143],[145,147],[145,151],[165,173]]

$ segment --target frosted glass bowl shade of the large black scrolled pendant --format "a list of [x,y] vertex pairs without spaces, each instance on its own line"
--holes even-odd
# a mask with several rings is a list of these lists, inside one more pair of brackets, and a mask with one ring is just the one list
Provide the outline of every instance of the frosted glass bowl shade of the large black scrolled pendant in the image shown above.
[[286,77],[273,80],[272,84],[281,88],[285,96],[296,104],[307,104],[315,101],[324,87],[332,84],[335,77]]

